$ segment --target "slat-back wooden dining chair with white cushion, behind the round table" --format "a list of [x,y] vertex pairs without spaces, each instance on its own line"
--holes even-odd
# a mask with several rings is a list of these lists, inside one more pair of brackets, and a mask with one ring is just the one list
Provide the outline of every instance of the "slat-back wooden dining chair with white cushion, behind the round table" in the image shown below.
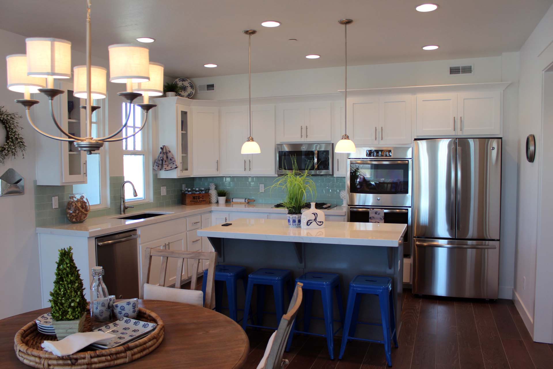
[[[152,257],[161,257],[161,268],[159,272],[159,285],[148,284],[150,279],[150,268],[152,267]],[[164,287],[165,274],[169,258],[176,258],[176,281],[175,288]],[[190,279],[190,290],[181,289],[182,266],[185,259],[192,260],[192,272]],[[200,251],[179,251],[163,250],[160,248],[146,248],[142,258],[142,288],[140,288],[140,298],[153,300],[169,300],[174,302],[185,302],[196,305],[202,305],[204,294],[201,290],[197,291],[197,278],[199,266],[202,260],[207,260],[207,279],[202,283],[206,284],[206,296],[204,308],[215,308],[215,264],[217,263],[216,252]]]

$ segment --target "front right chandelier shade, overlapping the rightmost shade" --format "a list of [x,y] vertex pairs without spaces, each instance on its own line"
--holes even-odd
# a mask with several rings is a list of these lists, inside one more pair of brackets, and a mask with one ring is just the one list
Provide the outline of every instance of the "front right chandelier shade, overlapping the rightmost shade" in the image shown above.
[[108,46],[109,81],[124,84],[150,80],[150,51],[144,46],[116,44]]

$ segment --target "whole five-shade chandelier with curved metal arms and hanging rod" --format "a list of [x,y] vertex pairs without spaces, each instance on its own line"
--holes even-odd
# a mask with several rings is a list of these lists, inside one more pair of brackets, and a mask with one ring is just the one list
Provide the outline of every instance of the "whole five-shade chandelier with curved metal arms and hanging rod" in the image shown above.
[[[74,142],[77,149],[88,154],[99,150],[105,142],[122,141],[142,131],[147,122],[149,110],[156,106],[149,103],[149,97],[163,95],[163,65],[149,61],[148,48],[133,44],[109,46],[109,81],[126,84],[126,92],[119,92],[117,95],[126,100],[128,110],[126,110],[124,124],[116,132],[105,137],[92,137],[92,113],[100,108],[100,106],[92,105],[92,99],[106,97],[107,70],[100,66],[91,65],[90,8],[90,0],[87,0],[86,65],[78,65],[73,68],[73,95],[86,99],[86,105],[81,106],[82,109],[86,110],[85,137],[77,137],[66,132],[60,126],[54,114],[54,98],[64,93],[63,90],[54,88],[54,79],[71,78],[70,41],[55,38],[27,38],[25,39],[27,54],[8,55],[6,57],[8,89],[23,92],[24,98],[15,100],[15,102],[25,107],[27,119],[35,131],[59,141]],[[44,93],[48,97],[52,121],[65,137],[43,132],[34,124],[30,115],[30,108],[39,101],[30,98],[30,94],[36,92]],[[127,127],[132,113],[132,102],[141,95],[143,96],[143,103],[135,105],[142,109],[144,116],[142,125],[134,133],[116,138]]]

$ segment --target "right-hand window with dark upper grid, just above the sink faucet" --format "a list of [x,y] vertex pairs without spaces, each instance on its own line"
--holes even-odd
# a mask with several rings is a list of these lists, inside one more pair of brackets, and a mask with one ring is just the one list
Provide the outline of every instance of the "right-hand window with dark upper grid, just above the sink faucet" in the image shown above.
[[[131,117],[127,127],[123,129],[123,136],[129,136],[140,129],[142,126],[142,109],[129,103],[122,105],[122,124],[125,122],[126,111],[131,108]],[[123,140],[123,175],[126,181],[131,181],[137,191],[138,196],[133,196],[131,186],[125,186],[125,200],[145,200],[146,199],[146,167],[147,148],[145,147],[144,131],[140,131],[133,137]]]

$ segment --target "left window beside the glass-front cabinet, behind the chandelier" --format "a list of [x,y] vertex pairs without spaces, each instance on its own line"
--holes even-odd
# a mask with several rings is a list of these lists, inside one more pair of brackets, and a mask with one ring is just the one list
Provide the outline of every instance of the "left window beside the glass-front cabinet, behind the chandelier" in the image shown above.
[[[97,138],[98,134],[103,136],[103,124],[102,124],[102,112],[103,103],[102,100],[93,100],[92,105],[101,106],[100,110],[92,113],[92,131],[91,136]],[[84,113],[86,116],[86,113]],[[84,118],[86,121],[86,117]],[[84,193],[92,209],[99,209],[101,207],[108,207],[108,194],[107,194],[107,160],[106,160],[106,148],[102,147],[98,152],[86,155],[86,184],[73,185],[73,191],[75,193]]]

